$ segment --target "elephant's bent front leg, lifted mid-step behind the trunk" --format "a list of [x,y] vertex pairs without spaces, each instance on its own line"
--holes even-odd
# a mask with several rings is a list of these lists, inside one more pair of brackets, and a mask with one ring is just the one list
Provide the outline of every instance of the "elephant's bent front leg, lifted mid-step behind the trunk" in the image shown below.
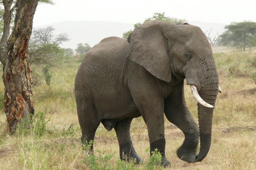
[[195,162],[196,148],[199,143],[199,129],[186,106],[183,82],[175,87],[169,99],[165,100],[164,105],[166,118],[179,127],[185,135],[182,146],[177,150],[177,156],[183,161]]

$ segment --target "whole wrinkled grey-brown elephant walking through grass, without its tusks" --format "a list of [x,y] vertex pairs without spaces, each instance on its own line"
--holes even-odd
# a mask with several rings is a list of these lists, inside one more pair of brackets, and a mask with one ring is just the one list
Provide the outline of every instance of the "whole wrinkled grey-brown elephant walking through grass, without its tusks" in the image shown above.
[[185,78],[205,102],[215,105],[218,74],[200,28],[153,20],[135,28],[128,40],[105,38],[87,53],[76,75],[82,144],[94,139],[102,122],[107,130],[116,131],[120,159],[140,162],[130,125],[133,118],[143,116],[150,153],[157,148],[166,166],[170,162],[165,156],[165,114],[185,135],[177,156],[187,162],[202,161],[211,144],[213,108],[198,104],[198,128],[184,100]]

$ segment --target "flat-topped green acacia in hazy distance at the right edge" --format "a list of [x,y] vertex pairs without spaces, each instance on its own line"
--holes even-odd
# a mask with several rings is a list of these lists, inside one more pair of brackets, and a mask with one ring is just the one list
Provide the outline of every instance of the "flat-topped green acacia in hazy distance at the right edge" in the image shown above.
[[256,38],[256,23],[244,21],[240,23],[231,23],[224,27],[226,31],[220,35],[221,43],[224,46],[231,46],[236,48],[250,47],[253,39]]

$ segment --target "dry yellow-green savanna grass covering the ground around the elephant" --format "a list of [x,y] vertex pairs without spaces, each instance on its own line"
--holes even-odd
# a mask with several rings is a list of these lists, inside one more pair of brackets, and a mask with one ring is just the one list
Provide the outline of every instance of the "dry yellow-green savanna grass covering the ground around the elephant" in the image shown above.
[[[213,48],[220,87],[213,117],[212,145],[202,162],[188,164],[176,156],[183,133],[166,119],[166,157],[177,170],[256,169],[256,52]],[[142,164],[119,160],[114,130],[100,125],[94,141],[94,155],[82,150],[81,129],[76,115],[74,79],[81,61],[63,63],[51,70],[51,85],[41,81],[33,88],[35,105],[31,128],[20,125],[10,136],[3,111],[3,83],[0,81],[0,170],[146,170],[164,169],[149,158],[149,142],[143,119],[134,119],[131,137]],[[33,68],[35,72],[42,72]],[[2,70],[2,69],[0,69]],[[2,74],[2,72],[1,72]],[[43,74],[41,75],[43,77]],[[254,91],[255,89],[255,91]],[[197,121],[197,102],[185,85],[186,103]],[[152,160],[154,159],[154,160]],[[166,168],[168,169],[168,168]]]

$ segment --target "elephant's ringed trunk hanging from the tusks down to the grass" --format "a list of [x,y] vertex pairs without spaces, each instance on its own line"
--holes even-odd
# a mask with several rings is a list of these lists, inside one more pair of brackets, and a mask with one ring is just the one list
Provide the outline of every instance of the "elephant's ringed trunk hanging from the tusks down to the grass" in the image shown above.
[[[216,79],[215,79],[216,80]],[[217,81],[218,82],[218,81]],[[215,100],[218,94],[218,83],[213,83],[204,86],[204,89],[199,92],[201,98],[209,103],[215,105]],[[211,90],[209,90],[211,89]],[[198,122],[199,122],[199,134],[200,134],[200,151],[196,156],[196,161],[202,161],[209,152],[212,138],[212,116],[214,108],[207,108],[198,103]]]

